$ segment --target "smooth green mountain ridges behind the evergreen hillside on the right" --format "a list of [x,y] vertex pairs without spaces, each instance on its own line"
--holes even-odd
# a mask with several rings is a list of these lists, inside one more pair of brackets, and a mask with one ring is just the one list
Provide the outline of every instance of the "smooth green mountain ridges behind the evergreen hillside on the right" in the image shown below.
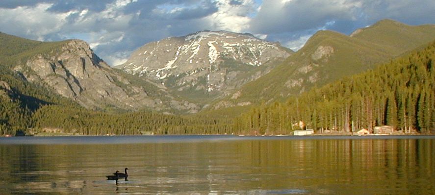
[[322,30],[305,46],[259,79],[211,106],[221,109],[272,102],[361,73],[435,39],[435,25],[411,26],[383,20],[347,36]]

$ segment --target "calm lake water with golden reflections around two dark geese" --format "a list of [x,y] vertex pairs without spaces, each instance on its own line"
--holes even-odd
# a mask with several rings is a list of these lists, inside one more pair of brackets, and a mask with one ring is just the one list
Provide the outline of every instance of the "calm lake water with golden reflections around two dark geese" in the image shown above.
[[435,194],[435,136],[13,137],[0,154],[0,194]]

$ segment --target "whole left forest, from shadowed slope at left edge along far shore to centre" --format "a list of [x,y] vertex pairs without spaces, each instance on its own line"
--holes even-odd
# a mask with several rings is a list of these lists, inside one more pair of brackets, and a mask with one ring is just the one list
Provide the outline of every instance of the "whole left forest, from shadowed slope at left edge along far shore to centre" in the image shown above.
[[77,135],[224,134],[231,126],[225,119],[88,110],[0,66],[0,135],[45,131]]

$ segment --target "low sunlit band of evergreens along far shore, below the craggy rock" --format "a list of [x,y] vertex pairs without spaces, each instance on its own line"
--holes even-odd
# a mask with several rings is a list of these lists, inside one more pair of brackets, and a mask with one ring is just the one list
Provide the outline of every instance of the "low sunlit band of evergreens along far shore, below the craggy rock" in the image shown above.
[[229,122],[150,111],[115,114],[58,105],[42,107],[33,115],[33,120],[38,130],[60,129],[64,133],[82,135],[225,134],[231,127]]

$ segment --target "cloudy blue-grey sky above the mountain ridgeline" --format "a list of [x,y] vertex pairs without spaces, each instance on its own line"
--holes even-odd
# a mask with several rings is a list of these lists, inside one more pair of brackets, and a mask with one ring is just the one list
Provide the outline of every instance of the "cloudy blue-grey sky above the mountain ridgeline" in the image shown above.
[[0,0],[0,31],[82,39],[109,65],[138,47],[200,30],[249,32],[300,49],[320,29],[350,34],[389,18],[434,24],[434,0]]

